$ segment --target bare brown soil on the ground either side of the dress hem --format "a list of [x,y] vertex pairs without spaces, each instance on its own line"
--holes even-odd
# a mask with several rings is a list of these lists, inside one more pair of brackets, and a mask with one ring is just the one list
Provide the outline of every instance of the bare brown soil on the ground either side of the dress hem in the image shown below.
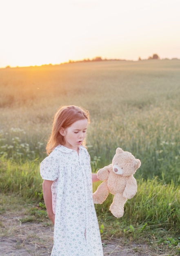
[[[49,222],[50,223],[50,222]],[[53,246],[53,225],[44,222],[20,221],[20,216],[1,215],[0,256],[50,256]],[[157,256],[150,245],[121,239],[102,240],[104,256]]]

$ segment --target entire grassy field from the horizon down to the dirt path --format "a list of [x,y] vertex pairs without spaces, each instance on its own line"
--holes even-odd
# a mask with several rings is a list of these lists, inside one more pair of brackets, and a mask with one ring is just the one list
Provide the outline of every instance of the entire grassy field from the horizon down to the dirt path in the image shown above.
[[[96,205],[102,237],[145,237],[179,248],[179,70],[180,60],[0,69],[1,193],[43,204],[39,164],[53,114],[61,105],[82,106],[91,114],[93,172],[111,163],[117,147],[142,162],[135,175],[138,192],[122,218],[109,212],[111,195]],[[43,211],[33,209],[29,220]]]

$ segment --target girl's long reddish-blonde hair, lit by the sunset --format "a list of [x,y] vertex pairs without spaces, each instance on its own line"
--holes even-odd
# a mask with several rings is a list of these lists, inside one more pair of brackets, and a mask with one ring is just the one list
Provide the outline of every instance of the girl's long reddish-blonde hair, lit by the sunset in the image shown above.
[[[60,129],[68,128],[74,122],[81,119],[87,119],[88,123],[90,122],[88,110],[73,105],[60,107],[54,115],[52,132],[46,146],[47,155],[49,155],[49,153],[51,153],[51,151],[59,144],[65,144],[65,139],[60,134]],[[83,145],[85,145],[85,141]]]

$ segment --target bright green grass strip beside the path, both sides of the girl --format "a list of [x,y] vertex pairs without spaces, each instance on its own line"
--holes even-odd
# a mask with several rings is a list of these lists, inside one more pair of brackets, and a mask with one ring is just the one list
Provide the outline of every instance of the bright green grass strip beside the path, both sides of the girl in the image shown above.
[[[98,158],[91,162],[92,168],[96,167]],[[95,170],[95,169],[94,169]],[[109,194],[103,204],[96,204],[96,212],[100,225],[104,226],[106,236],[127,236],[132,232],[141,236],[143,230],[171,236],[178,236],[180,230],[180,186],[173,182],[166,184],[158,181],[157,177],[150,180],[140,178],[137,180],[138,191],[134,198],[124,205],[124,216],[116,219],[109,207],[113,195]],[[93,184],[96,191],[100,182]],[[39,173],[39,161],[16,163],[12,159],[0,159],[0,191],[3,194],[13,194],[24,198],[42,202],[42,178]],[[42,205],[42,204],[40,204]],[[132,235],[132,234],[131,234]],[[159,236],[162,236],[159,234]],[[136,237],[138,238],[138,237]]]

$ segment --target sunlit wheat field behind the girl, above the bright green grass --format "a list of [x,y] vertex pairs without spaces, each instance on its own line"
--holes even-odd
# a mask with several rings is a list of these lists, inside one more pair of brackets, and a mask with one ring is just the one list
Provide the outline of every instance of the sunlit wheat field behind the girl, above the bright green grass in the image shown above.
[[180,60],[0,69],[1,155],[14,154],[13,139],[41,160],[62,105],[90,111],[87,147],[98,166],[109,164],[121,147],[141,159],[137,175],[180,182]]

